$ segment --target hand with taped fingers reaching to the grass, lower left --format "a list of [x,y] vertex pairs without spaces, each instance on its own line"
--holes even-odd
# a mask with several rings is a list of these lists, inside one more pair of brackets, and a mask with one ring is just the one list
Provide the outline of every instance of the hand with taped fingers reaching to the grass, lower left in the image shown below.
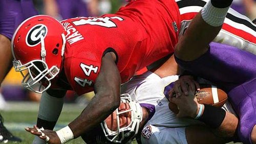
[[44,139],[47,143],[61,143],[55,131],[38,129],[36,126],[34,126],[33,128],[25,128],[25,130],[30,132],[31,134],[39,136],[41,139]]

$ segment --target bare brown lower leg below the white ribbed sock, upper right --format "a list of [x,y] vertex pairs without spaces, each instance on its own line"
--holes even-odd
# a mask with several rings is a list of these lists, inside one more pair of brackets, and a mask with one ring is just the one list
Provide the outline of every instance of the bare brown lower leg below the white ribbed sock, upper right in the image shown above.
[[209,47],[209,43],[217,36],[220,27],[208,25],[201,13],[191,21],[183,37],[175,47],[175,55],[184,61],[192,61],[203,55]]

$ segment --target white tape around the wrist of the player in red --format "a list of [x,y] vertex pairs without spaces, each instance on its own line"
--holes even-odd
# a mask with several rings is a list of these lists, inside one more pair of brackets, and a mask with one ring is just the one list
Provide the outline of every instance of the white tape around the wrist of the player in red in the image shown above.
[[69,126],[56,131],[56,133],[61,143],[66,143],[69,140],[74,139],[74,134]]

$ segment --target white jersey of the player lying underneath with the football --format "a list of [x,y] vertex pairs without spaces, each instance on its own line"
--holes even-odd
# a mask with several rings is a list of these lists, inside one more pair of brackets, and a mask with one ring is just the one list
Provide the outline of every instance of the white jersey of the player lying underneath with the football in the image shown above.
[[[160,78],[147,71],[121,86],[121,93],[129,93],[133,100],[150,110],[150,119],[141,131],[142,143],[187,144],[186,126],[203,124],[192,118],[178,118],[169,110],[169,101],[164,95],[164,89],[166,86],[172,87],[178,78],[177,75]],[[202,79],[200,82],[208,83]],[[223,108],[229,112],[233,111],[229,105]]]

